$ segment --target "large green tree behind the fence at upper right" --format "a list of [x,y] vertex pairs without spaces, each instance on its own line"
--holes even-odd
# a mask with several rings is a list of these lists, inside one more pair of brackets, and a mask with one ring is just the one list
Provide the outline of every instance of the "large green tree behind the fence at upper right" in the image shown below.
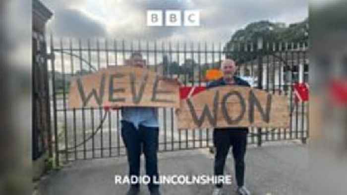
[[[259,38],[263,40],[261,53],[256,51]],[[282,49],[284,49],[285,43],[304,43],[307,45],[307,41],[308,18],[302,22],[289,24],[288,27],[285,23],[258,21],[248,24],[244,29],[237,30],[224,47],[224,52],[227,58],[242,64],[256,59],[259,54],[262,56],[274,55],[274,50],[278,51],[280,47],[279,43],[282,43]],[[291,44],[289,44],[289,49],[291,49],[290,47],[292,47]],[[294,44],[295,47],[297,44]],[[251,49],[256,52],[250,52]]]

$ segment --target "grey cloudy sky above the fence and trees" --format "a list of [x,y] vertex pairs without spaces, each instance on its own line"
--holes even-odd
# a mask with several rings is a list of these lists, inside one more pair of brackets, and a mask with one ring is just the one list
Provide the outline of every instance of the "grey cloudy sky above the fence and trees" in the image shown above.
[[[308,16],[308,0],[42,0],[54,12],[56,37],[196,40],[225,43],[259,20],[293,23]],[[199,27],[148,27],[147,9],[199,9]]]

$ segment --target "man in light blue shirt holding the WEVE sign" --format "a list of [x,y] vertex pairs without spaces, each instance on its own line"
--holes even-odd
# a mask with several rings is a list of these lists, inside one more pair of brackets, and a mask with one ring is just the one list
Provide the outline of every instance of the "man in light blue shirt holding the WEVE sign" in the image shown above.
[[[146,68],[141,53],[132,53],[128,65]],[[153,182],[158,178],[158,109],[151,107],[113,107],[120,109],[121,137],[126,147],[129,177],[140,176],[140,156],[143,151],[146,160],[146,175],[151,178],[148,184],[150,195],[160,195],[159,185]],[[142,149],[141,149],[142,148]],[[138,195],[140,185],[131,184],[126,195]]]

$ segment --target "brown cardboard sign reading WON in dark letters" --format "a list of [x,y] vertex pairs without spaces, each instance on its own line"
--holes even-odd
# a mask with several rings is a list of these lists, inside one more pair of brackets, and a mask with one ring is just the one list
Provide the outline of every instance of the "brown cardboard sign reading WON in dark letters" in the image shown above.
[[241,86],[215,87],[181,100],[178,129],[289,127],[287,97]]

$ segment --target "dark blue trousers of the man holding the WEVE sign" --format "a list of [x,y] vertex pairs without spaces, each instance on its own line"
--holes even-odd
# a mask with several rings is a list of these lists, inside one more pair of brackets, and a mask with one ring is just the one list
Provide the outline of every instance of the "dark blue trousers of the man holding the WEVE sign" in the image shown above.
[[[159,188],[153,183],[153,176],[159,178],[158,174],[158,127],[145,127],[139,125],[136,129],[132,123],[121,121],[121,137],[127,151],[129,164],[129,177],[140,176],[141,145],[146,159],[146,175],[151,178],[148,189],[153,191]],[[138,187],[139,184],[133,184]]]

